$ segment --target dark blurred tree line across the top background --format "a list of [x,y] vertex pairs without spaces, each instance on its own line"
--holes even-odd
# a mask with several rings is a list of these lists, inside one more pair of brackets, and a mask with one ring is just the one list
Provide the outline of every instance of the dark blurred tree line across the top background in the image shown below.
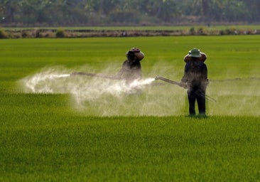
[[0,0],[0,26],[259,23],[259,0]]

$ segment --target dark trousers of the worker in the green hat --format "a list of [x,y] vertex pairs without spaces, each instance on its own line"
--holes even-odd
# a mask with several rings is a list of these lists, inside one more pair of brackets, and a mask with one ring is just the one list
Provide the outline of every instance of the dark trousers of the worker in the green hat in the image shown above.
[[188,90],[188,101],[189,101],[189,113],[190,116],[195,115],[195,102],[197,100],[197,107],[199,114],[206,114],[206,94],[205,89],[200,87],[191,88]]

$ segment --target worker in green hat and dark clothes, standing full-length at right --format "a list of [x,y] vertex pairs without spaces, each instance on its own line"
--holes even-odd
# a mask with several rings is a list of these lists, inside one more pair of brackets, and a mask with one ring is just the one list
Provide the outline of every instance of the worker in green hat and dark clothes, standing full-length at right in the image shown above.
[[204,61],[207,59],[205,53],[201,53],[199,49],[193,48],[185,55],[185,71],[181,84],[187,88],[189,115],[195,116],[195,102],[200,116],[206,116],[206,87],[207,87],[207,65]]

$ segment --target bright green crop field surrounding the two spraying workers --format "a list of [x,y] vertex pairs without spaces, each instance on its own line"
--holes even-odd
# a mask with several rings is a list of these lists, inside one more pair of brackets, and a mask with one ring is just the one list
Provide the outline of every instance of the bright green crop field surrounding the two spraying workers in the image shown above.
[[[0,181],[259,181],[260,36],[0,40]],[[206,118],[156,80],[129,94],[114,75],[139,47],[143,80],[183,76],[207,54]],[[216,100],[212,100],[212,99]]]

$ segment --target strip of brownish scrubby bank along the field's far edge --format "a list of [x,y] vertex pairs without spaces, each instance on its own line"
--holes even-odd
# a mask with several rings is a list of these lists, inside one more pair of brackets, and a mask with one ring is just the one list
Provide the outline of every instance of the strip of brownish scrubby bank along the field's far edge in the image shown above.
[[[157,26],[156,26],[157,27]],[[169,26],[165,26],[169,28]],[[260,34],[257,26],[237,26],[236,28],[215,28],[207,26],[194,26],[183,28],[174,27],[173,30],[161,29],[153,30],[152,26],[147,26],[140,30],[140,27],[119,30],[115,27],[102,27],[102,29],[76,29],[76,28],[18,28],[16,30],[5,28],[0,29],[0,38],[84,38],[84,37],[138,37],[138,36],[224,36],[224,35],[256,35]],[[147,29],[146,29],[147,28]],[[162,27],[161,27],[162,28]],[[178,29],[179,28],[179,29]]]

